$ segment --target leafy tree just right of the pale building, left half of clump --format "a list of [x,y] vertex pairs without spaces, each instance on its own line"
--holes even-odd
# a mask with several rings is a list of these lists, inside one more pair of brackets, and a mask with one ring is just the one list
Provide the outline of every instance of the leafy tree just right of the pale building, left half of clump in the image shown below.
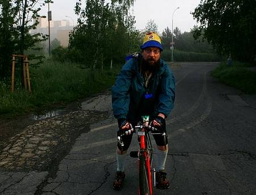
[[82,61],[86,62],[85,66],[95,69],[104,61],[109,4],[105,4],[104,0],[87,0],[85,6],[82,9],[81,1],[76,3],[75,11],[80,18],[71,33],[69,48],[78,50],[84,56]]

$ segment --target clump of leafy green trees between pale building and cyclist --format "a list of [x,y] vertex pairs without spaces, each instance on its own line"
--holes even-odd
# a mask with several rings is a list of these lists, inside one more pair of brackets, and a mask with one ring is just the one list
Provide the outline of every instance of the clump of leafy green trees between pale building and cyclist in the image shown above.
[[134,16],[129,15],[133,1],[87,0],[85,8],[78,1],[75,12],[80,16],[70,35],[69,50],[82,54],[79,63],[90,69],[103,68],[110,61],[123,61],[138,49],[139,32]]

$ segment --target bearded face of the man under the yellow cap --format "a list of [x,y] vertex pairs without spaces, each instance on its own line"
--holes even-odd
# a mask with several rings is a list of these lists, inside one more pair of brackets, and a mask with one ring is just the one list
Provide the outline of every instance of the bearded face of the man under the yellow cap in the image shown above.
[[156,47],[146,48],[143,50],[142,56],[148,65],[154,66],[160,59],[160,49]]

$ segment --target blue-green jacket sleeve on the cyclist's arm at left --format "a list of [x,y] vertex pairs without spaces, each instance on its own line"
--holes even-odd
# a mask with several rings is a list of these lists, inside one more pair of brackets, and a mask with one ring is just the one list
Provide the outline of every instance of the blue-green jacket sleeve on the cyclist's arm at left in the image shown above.
[[112,87],[112,108],[115,118],[126,118],[129,111],[131,79],[133,77],[133,60],[123,65]]

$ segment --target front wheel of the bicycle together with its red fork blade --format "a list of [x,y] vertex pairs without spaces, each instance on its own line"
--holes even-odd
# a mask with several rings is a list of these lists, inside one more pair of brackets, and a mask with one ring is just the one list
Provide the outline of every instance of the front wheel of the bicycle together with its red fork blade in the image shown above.
[[[148,160],[148,162],[147,162]],[[142,154],[139,156],[139,195],[152,194],[152,181],[149,159]]]

